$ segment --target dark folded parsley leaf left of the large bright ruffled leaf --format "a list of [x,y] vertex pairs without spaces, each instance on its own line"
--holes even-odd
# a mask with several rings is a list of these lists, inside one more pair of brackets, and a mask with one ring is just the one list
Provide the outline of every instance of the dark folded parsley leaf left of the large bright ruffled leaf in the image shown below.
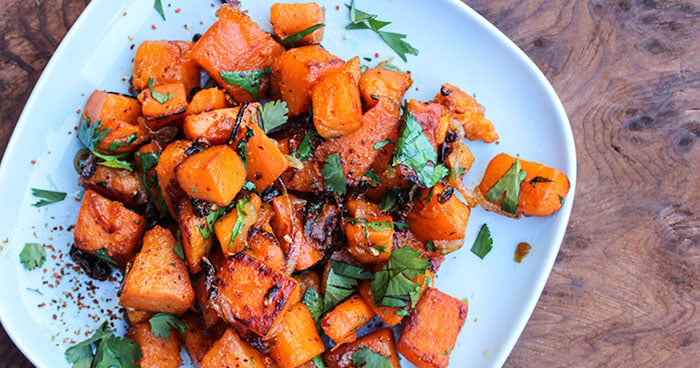
[[357,288],[357,280],[371,280],[372,274],[362,267],[331,260],[326,277],[326,293],[323,296],[323,310],[335,307],[349,297]]

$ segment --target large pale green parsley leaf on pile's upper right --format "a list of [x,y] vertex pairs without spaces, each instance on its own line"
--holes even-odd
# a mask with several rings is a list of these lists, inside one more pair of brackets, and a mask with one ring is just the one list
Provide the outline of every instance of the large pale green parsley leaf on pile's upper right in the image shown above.
[[448,170],[445,165],[437,164],[437,152],[408,106],[404,107],[403,120],[404,126],[396,141],[392,165],[404,165],[415,170],[419,184],[431,188],[447,175]]

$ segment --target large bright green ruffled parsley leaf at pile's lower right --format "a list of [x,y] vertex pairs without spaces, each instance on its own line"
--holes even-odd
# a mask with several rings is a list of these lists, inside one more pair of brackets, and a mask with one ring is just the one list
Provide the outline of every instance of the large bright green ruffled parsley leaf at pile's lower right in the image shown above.
[[386,307],[415,306],[420,297],[421,285],[410,279],[425,274],[428,260],[420,258],[420,252],[411,247],[402,247],[391,252],[391,258],[374,274],[370,285],[374,304]]

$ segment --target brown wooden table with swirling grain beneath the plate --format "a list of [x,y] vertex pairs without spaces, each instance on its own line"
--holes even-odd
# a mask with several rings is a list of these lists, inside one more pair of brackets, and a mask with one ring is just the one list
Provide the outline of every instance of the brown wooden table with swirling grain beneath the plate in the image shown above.
[[[0,2],[0,151],[86,2]],[[700,4],[467,3],[544,71],[578,153],[564,244],[506,366],[698,366]],[[1,330],[0,367],[31,367]]]

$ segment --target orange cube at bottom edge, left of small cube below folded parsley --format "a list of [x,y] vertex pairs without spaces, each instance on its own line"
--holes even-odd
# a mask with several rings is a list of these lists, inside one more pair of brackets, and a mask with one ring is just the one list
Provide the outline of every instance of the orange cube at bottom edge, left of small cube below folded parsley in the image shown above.
[[272,360],[279,368],[295,368],[317,357],[324,350],[309,309],[303,303],[291,306],[270,350]]

